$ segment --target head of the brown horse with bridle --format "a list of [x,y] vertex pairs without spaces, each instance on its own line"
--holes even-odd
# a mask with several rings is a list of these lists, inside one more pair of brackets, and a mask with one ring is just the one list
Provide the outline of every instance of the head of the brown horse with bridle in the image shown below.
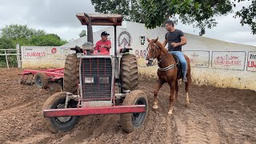
[[157,44],[158,38],[151,40],[147,38],[147,41],[149,42],[149,44],[146,47],[146,50],[148,51],[148,54],[146,56],[146,60],[148,61],[148,63],[146,66],[152,66],[154,58],[158,58],[158,56],[160,55],[160,47]]

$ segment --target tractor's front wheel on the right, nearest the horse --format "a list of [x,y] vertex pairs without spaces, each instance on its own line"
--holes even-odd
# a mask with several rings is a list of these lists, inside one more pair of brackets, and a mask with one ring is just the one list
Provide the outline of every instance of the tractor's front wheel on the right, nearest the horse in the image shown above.
[[130,92],[130,94],[126,95],[126,98],[123,101],[122,105],[146,105],[146,110],[144,113],[120,115],[122,129],[125,130],[127,133],[131,133],[135,129],[141,127],[146,121],[146,116],[148,113],[148,101],[146,94],[142,90],[134,90]]

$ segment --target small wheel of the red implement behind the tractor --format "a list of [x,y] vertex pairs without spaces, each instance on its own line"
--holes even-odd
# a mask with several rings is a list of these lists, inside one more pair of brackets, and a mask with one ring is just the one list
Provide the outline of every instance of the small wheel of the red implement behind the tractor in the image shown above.
[[48,77],[44,73],[37,73],[34,75],[34,85],[38,87],[38,89],[46,89],[48,86]]

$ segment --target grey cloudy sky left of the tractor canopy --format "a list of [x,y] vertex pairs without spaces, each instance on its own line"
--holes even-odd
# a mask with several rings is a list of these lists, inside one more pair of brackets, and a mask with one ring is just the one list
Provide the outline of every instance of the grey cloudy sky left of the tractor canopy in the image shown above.
[[94,11],[89,0],[9,0],[0,6],[0,29],[10,24],[26,24],[70,40],[78,38],[78,34],[86,30],[76,14]]

